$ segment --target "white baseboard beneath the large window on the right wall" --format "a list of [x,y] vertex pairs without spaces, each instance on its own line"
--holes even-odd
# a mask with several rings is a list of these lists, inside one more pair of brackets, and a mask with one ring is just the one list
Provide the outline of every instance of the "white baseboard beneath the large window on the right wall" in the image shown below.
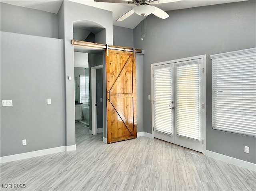
[[206,150],[206,156],[256,171],[256,164]]

